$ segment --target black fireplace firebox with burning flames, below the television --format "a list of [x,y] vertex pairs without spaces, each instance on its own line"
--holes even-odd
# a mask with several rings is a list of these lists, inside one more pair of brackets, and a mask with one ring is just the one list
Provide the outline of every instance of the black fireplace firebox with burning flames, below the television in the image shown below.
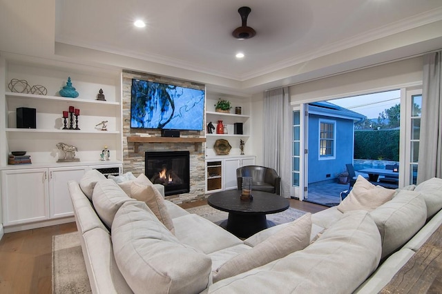
[[190,192],[189,151],[145,153],[145,174],[153,184],[164,186],[164,195]]

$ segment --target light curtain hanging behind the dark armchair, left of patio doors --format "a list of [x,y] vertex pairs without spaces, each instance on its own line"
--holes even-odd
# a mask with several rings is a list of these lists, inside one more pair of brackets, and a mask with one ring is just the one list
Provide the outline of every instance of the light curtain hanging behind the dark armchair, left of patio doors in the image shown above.
[[291,185],[291,106],[289,88],[267,90],[264,95],[264,165],[281,178],[281,196],[290,197]]

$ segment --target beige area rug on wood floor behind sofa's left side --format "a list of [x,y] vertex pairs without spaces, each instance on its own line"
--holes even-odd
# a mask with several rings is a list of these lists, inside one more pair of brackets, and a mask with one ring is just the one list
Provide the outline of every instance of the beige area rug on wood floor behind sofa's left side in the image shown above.
[[52,293],[92,293],[78,232],[52,237]]

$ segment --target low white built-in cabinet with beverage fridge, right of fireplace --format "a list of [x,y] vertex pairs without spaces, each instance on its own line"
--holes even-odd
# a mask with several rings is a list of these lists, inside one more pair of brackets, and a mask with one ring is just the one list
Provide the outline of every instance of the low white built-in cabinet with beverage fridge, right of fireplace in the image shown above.
[[236,169],[252,166],[255,161],[256,157],[245,155],[206,159],[206,193],[236,189]]

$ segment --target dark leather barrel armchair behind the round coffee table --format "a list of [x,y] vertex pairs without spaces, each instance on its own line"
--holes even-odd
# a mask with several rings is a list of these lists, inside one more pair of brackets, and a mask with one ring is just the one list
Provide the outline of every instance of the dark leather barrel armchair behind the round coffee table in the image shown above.
[[265,191],[280,195],[281,178],[273,168],[265,166],[242,166],[236,170],[236,178],[238,190],[241,190],[242,177],[252,178],[252,194],[253,190]]

